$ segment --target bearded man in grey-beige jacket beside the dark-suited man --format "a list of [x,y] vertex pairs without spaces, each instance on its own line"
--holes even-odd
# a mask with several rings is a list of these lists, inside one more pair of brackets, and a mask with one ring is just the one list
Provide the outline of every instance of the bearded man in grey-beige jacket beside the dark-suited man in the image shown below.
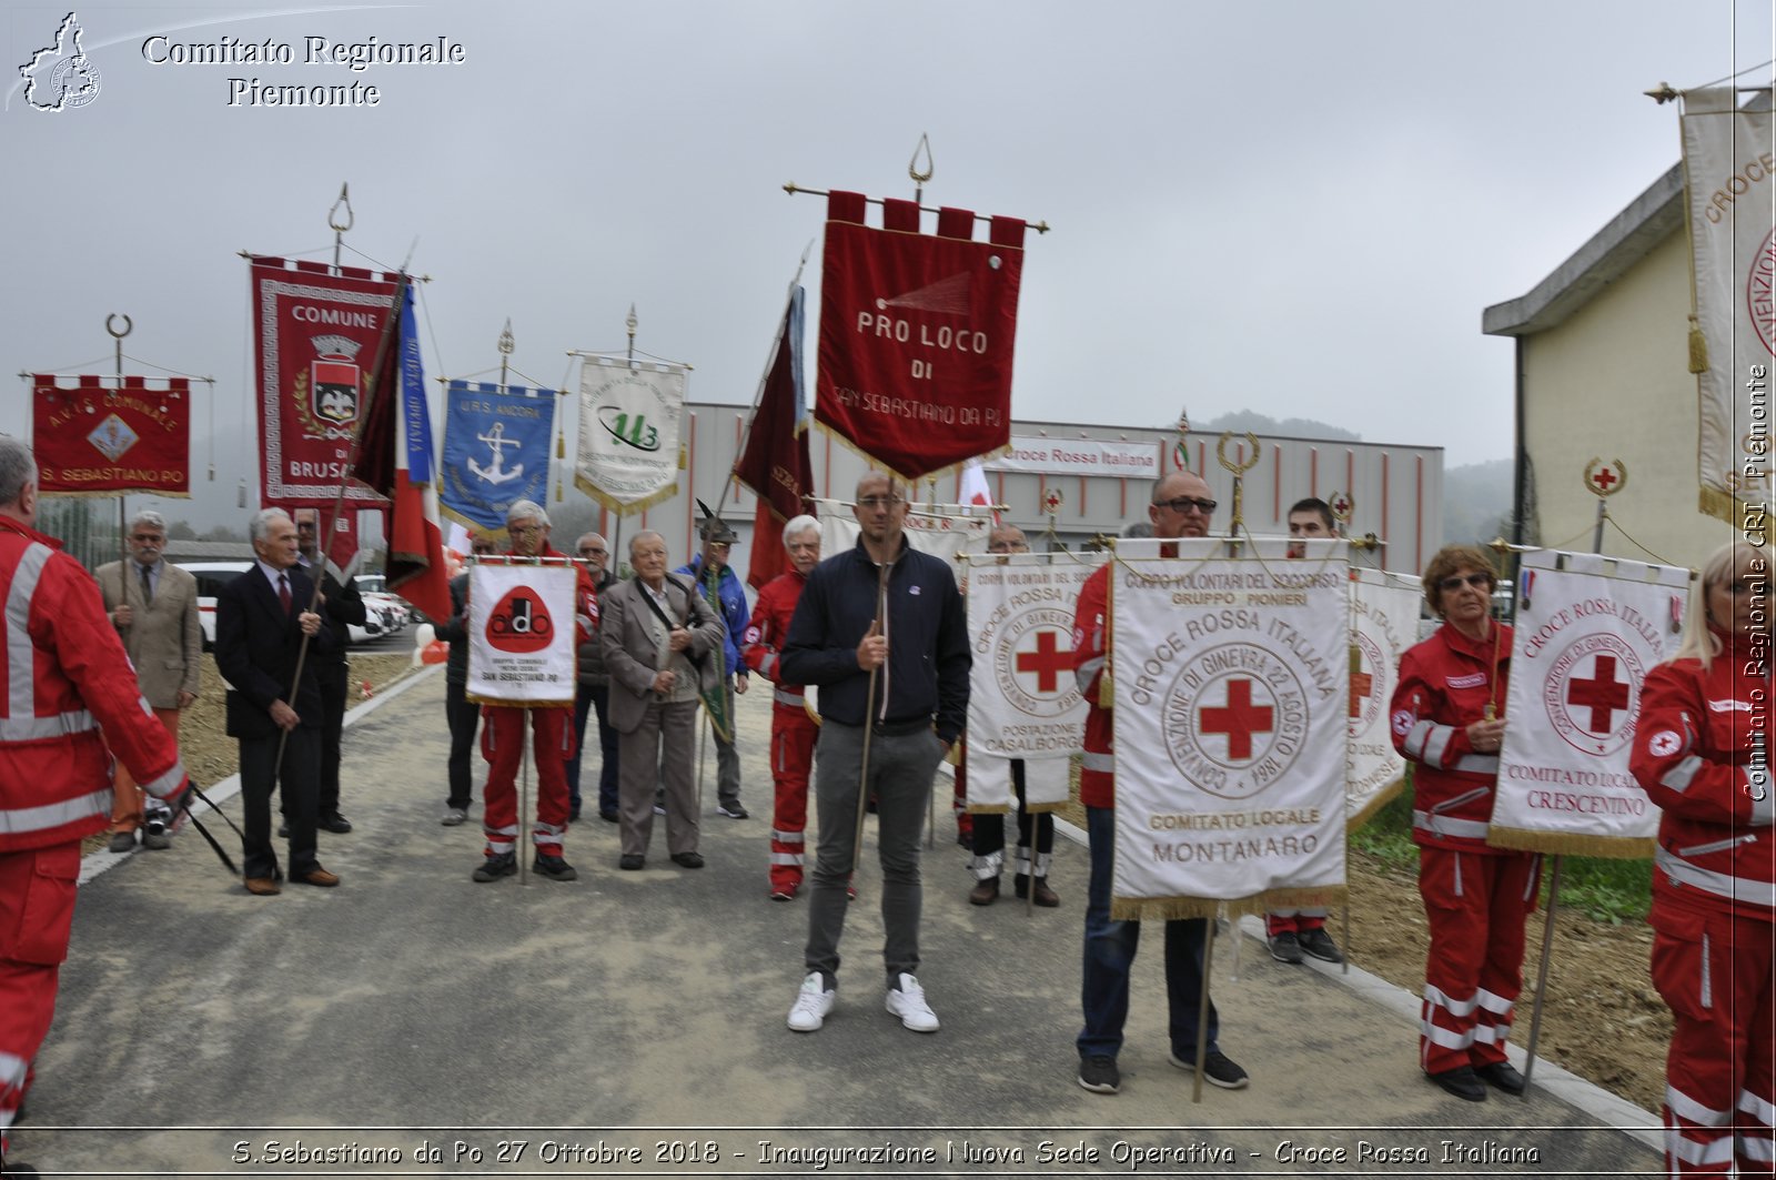
[[[142,510],[130,521],[130,560],[98,569],[105,611],[117,627],[135,665],[135,681],[155,716],[179,739],[179,711],[197,700],[202,672],[204,633],[197,624],[197,579],[162,560],[167,521]],[[169,848],[172,812],[146,794],[117,762],[117,793],[112,801],[110,849],[126,853],[142,832],[142,848]]]

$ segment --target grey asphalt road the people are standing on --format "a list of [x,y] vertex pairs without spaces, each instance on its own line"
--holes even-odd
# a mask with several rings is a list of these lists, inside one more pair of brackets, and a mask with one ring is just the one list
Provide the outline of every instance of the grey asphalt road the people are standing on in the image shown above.
[[1217,940],[1213,986],[1250,1089],[1197,1102],[1169,1064],[1149,945],[1122,1093],[1083,1091],[1083,849],[1058,841],[1058,910],[970,906],[943,778],[920,970],[943,1029],[883,1011],[867,864],[838,1006],[790,1032],[806,908],[765,897],[765,693],[741,698],[751,819],[714,814],[709,759],[707,869],[671,865],[655,832],[648,869],[620,873],[616,828],[591,819],[567,839],[581,880],[478,885],[476,825],[439,825],[444,681],[407,684],[346,732],[357,830],[321,833],[339,889],[250,897],[195,832],[92,858],[21,1159],[83,1176],[1659,1171],[1652,1114],[1545,1063],[1527,1100],[1458,1102],[1417,1070],[1412,997],[1241,937]]

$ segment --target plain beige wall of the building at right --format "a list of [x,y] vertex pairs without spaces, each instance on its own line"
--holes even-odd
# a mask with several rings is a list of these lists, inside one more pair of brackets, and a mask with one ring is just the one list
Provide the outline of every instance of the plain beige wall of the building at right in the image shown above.
[[1604,553],[1698,567],[1732,538],[1724,521],[1696,508],[1687,332],[1689,251],[1671,233],[1570,318],[1520,338],[1524,448],[1543,546],[1591,547],[1597,496],[1584,467],[1593,457],[1620,458],[1629,471],[1609,498],[1621,528],[1606,526]]

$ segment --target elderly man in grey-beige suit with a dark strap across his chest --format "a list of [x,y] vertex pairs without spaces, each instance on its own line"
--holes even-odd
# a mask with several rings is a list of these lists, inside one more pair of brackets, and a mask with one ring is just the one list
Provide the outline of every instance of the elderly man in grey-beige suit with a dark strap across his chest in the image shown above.
[[666,572],[666,538],[659,533],[630,537],[629,563],[636,576],[602,597],[599,631],[616,730],[618,867],[646,864],[657,782],[666,794],[673,864],[702,869],[691,750],[698,688],[721,681],[721,620],[703,595]]

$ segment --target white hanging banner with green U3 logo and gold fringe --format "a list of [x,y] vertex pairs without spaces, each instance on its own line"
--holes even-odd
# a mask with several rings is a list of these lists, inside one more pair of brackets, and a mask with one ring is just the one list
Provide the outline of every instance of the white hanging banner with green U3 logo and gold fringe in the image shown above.
[[680,364],[588,355],[579,371],[574,485],[616,515],[678,494]]

